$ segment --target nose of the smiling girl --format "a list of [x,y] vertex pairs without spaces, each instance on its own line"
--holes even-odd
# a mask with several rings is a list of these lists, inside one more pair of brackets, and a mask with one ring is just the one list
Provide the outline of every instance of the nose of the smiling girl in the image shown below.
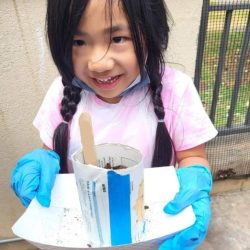
[[[100,53],[99,53],[100,55]],[[88,61],[88,69],[92,72],[102,73],[110,71],[114,67],[114,59],[105,51],[99,58],[93,54]]]

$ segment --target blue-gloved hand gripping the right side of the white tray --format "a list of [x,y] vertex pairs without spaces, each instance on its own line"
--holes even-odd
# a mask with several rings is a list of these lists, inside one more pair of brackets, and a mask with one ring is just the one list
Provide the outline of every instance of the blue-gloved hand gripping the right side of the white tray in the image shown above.
[[195,224],[163,242],[159,250],[193,250],[205,239],[211,218],[210,195],[212,176],[202,165],[177,169],[180,190],[165,207],[164,212],[177,214],[192,205]]

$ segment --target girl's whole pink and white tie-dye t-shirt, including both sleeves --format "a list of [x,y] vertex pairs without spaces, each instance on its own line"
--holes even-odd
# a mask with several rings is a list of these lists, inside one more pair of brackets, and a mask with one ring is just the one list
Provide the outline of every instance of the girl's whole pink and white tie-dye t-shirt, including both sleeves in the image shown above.
[[[217,135],[205,112],[193,81],[184,73],[166,67],[162,80],[165,124],[176,151],[193,148]],[[41,140],[52,148],[55,128],[62,122],[60,103],[63,97],[61,77],[54,80],[33,121]],[[151,167],[157,118],[148,87],[123,97],[119,103],[102,101],[94,93],[81,92],[81,101],[70,123],[68,159],[82,147],[78,119],[82,112],[92,118],[95,144],[121,143],[137,148],[145,167]],[[69,171],[72,172],[71,164]]]

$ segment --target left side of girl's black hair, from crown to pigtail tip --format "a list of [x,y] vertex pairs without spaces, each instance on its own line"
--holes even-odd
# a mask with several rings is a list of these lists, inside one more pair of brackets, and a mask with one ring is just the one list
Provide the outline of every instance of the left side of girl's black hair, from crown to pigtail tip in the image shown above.
[[47,0],[46,32],[53,61],[62,75],[64,85],[61,101],[63,122],[53,135],[53,149],[60,156],[61,173],[67,173],[67,153],[69,126],[77,105],[80,102],[81,89],[72,85],[75,76],[72,61],[72,46],[87,0]]

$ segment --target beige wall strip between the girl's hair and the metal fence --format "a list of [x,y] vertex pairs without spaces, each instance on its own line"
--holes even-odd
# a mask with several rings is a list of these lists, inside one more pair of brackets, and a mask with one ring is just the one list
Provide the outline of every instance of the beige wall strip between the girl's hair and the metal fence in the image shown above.
[[202,0],[166,0],[173,17],[167,61],[194,77]]

